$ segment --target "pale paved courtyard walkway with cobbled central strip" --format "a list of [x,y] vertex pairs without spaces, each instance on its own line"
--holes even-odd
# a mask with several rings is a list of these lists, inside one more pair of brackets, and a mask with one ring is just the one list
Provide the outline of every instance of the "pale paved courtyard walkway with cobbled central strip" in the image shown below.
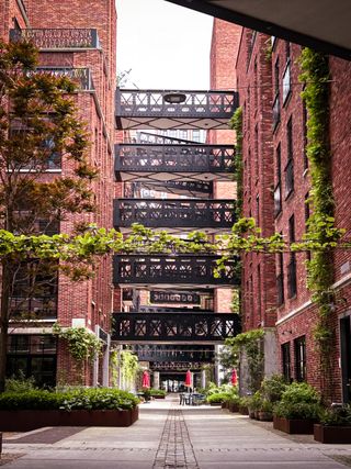
[[[179,405],[177,394],[140,404],[131,427],[56,427],[5,434],[9,469],[337,469],[351,445],[287,436],[219,407]],[[342,462],[339,462],[342,461]]]

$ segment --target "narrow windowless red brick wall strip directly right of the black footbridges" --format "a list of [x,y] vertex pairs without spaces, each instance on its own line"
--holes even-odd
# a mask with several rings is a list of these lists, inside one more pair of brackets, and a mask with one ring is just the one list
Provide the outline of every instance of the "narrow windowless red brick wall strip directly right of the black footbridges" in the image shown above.
[[[242,30],[237,58],[237,88],[242,108],[244,215],[252,216],[263,236],[273,233],[272,72],[269,36]],[[242,256],[242,325],[271,327],[275,322],[275,269],[272,256]]]

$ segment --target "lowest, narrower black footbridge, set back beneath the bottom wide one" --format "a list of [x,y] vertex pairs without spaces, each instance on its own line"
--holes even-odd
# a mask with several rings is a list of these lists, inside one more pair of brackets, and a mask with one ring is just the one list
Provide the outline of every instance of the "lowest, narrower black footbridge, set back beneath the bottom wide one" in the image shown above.
[[213,345],[133,345],[132,350],[137,354],[140,361],[171,364],[178,362],[213,362]]

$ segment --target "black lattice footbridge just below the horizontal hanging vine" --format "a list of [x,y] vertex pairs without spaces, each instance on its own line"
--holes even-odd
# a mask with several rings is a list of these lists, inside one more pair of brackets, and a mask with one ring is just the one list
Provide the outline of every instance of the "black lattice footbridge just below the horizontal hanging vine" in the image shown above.
[[200,288],[240,284],[238,258],[225,261],[215,277],[219,256],[212,255],[117,255],[113,259],[113,281],[120,286],[200,286]]

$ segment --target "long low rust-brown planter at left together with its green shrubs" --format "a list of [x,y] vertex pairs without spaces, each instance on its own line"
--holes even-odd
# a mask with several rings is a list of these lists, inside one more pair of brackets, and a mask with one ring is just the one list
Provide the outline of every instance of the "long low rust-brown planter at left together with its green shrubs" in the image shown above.
[[33,390],[0,395],[0,431],[43,426],[129,426],[138,418],[138,399],[109,388],[65,392]]

